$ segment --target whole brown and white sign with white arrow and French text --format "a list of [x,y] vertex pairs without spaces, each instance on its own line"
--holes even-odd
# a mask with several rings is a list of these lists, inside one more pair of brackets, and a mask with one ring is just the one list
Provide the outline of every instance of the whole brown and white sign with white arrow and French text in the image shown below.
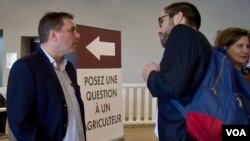
[[121,32],[77,25],[77,79],[85,106],[87,140],[123,137]]

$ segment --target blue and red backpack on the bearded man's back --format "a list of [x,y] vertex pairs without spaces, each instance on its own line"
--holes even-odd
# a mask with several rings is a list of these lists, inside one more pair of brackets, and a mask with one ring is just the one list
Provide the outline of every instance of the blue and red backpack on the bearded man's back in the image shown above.
[[198,141],[221,141],[222,125],[250,123],[250,88],[231,61],[214,49],[191,103],[171,102],[186,119],[188,133]]

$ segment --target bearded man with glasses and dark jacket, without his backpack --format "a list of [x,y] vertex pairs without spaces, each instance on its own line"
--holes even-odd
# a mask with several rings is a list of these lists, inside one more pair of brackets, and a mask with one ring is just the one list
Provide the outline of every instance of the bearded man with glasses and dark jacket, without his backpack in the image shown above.
[[159,22],[159,37],[165,48],[160,65],[146,64],[142,76],[149,91],[158,99],[157,135],[160,141],[193,140],[186,122],[170,99],[183,105],[205,75],[211,45],[198,31],[201,24],[197,8],[187,2],[164,8]]

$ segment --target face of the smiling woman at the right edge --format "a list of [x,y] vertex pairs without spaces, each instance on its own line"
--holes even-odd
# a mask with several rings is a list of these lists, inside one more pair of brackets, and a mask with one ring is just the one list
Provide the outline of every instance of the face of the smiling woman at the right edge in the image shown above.
[[249,58],[249,38],[248,36],[242,36],[233,45],[226,48],[229,58],[232,60],[236,67],[241,67],[246,64]]

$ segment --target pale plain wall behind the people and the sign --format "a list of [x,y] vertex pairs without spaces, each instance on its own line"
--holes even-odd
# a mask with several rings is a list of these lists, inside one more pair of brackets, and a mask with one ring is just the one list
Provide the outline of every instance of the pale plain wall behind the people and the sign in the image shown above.
[[[37,36],[41,16],[47,11],[67,11],[81,25],[121,31],[124,83],[141,83],[141,70],[149,61],[159,62],[163,49],[157,36],[157,17],[177,0],[1,0],[0,29],[3,56],[17,52],[21,36]],[[187,0],[186,0],[187,1]],[[228,26],[250,29],[250,0],[188,0],[202,16],[201,31],[213,42],[215,33]],[[5,66],[5,57],[3,57]],[[9,69],[3,67],[3,86]]]

